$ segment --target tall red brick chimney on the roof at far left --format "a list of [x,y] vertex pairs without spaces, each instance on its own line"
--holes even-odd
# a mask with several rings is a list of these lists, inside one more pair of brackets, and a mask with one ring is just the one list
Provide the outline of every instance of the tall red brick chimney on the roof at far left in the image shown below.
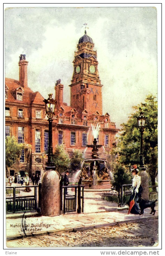
[[27,73],[28,61],[26,61],[25,54],[20,55],[20,61],[18,65],[20,67],[20,85],[22,87],[27,87],[28,86],[28,73]]

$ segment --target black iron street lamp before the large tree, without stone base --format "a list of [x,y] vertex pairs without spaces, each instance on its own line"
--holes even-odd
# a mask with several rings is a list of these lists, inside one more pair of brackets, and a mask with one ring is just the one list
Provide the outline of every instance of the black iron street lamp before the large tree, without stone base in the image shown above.
[[140,140],[140,168],[141,169],[145,169],[144,163],[143,163],[143,133],[144,133],[146,119],[147,117],[143,115],[143,112],[140,112],[140,116],[137,117],[137,123],[138,123],[138,128],[141,134],[141,140]]

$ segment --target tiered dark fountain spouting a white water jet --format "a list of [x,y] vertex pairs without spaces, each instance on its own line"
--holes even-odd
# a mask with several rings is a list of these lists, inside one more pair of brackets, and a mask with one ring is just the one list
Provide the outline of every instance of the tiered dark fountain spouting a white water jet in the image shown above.
[[[103,147],[97,144],[97,136],[99,134],[100,125],[94,127],[92,124],[93,144],[87,145],[92,148],[91,158],[85,158],[82,163],[81,178],[82,185],[91,189],[107,189],[111,188],[111,173],[106,167],[106,159],[100,159],[98,149]],[[80,174],[80,173],[79,173]]]

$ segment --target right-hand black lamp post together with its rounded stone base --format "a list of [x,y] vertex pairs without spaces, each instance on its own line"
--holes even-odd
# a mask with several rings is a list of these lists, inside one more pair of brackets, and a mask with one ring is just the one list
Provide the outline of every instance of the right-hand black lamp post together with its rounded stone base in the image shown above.
[[137,117],[138,128],[141,134],[140,140],[140,172],[139,176],[141,176],[141,186],[142,186],[142,198],[145,201],[149,201],[149,175],[144,167],[143,163],[143,133],[145,128],[145,121],[147,117],[143,115],[143,112],[140,112],[140,116]]

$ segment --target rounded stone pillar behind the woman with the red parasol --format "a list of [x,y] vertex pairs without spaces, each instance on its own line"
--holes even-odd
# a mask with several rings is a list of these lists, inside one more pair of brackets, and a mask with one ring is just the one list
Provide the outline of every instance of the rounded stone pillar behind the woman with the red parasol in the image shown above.
[[138,175],[141,176],[142,199],[149,201],[149,175],[146,170],[140,170]]

